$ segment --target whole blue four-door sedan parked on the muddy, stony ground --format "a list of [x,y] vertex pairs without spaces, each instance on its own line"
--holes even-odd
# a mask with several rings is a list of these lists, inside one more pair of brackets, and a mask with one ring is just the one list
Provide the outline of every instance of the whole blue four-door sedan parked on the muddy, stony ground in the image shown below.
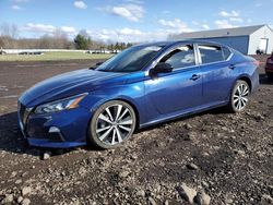
[[135,129],[226,107],[245,110],[259,86],[258,61],[215,43],[133,46],[96,69],[43,81],[19,99],[33,146],[121,145]]

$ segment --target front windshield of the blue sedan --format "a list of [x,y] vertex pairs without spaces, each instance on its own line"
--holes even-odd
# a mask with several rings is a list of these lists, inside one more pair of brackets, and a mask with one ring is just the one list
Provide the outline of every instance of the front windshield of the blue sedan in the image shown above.
[[163,46],[136,46],[123,50],[100,64],[96,71],[134,72],[140,71],[152,60]]

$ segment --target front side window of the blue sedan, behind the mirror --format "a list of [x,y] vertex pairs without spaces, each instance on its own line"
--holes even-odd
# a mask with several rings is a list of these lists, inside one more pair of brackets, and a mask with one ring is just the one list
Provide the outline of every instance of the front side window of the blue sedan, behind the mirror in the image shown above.
[[169,63],[174,69],[195,65],[193,46],[180,46],[179,48],[163,57],[161,62]]

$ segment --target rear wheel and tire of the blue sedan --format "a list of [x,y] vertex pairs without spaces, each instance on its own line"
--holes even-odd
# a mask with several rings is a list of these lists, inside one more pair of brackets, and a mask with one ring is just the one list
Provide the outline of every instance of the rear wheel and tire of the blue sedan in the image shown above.
[[233,113],[242,112],[249,101],[250,88],[246,81],[237,81],[233,88],[228,110]]

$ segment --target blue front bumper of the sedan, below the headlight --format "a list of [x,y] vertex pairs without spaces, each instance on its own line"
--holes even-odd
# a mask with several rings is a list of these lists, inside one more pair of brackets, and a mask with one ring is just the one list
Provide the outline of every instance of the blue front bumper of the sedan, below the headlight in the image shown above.
[[19,102],[19,124],[32,146],[68,148],[86,144],[91,112],[82,107],[36,114]]

